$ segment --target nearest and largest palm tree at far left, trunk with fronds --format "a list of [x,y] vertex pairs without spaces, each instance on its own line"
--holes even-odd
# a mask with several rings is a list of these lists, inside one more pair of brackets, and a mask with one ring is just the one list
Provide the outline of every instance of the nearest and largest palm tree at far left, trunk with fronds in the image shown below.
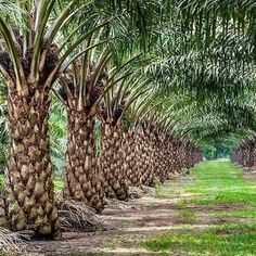
[[64,61],[105,25],[76,37],[84,22],[59,41],[60,29],[87,7],[77,3],[71,1],[60,10],[55,0],[25,1],[15,17],[18,24],[9,25],[8,16],[0,17],[0,64],[9,85],[7,216],[12,230],[31,228],[43,238],[59,233],[48,129],[50,90]]

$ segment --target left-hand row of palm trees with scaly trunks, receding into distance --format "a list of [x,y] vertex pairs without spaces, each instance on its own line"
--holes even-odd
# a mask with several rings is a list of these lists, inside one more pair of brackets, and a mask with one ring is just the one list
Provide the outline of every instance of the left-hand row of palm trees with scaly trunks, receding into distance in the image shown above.
[[154,185],[202,161],[196,145],[172,135],[166,112],[152,114],[154,84],[137,65],[138,47],[116,61],[113,48],[124,43],[124,27],[129,36],[146,38],[140,20],[146,9],[126,5],[130,22],[114,26],[118,12],[105,17],[98,1],[62,3],[21,1],[14,20],[0,17],[0,67],[9,88],[3,208],[11,230],[33,229],[40,238],[60,232],[50,157],[52,92],[67,113],[65,199],[100,212],[105,197],[127,199],[128,185]]

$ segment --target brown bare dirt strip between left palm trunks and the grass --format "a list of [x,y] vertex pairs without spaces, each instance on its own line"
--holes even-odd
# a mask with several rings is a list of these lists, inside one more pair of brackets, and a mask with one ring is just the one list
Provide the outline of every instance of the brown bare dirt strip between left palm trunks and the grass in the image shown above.
[[[142,248],[142,241],[168,233],[170,230],[200,231],[220,222],[246,221],[209,215],[213,210],[243,208],[241,205],[179,206],[177,202],[180,199],[194,196],[182,192],[182,188],[194,182],[196,180],[190,176],[179,177],[161,187],[162,191],[178,191],[165,199],[156,199],[157,194],[152,190],[142,199],[108,206],[101,216],[107,227],[106,230],[93,233],[64,233],[57,241],[31,242],[29,255],[157,255]],[[196,217],[182,217],[182,213],[188,210],[195,213]]]

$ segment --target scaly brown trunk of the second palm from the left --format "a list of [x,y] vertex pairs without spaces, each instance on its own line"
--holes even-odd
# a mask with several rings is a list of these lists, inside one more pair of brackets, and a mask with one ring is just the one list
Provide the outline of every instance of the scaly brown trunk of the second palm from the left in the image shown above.
[[102,176],[97,166],[94,117],[67,111],[68,143],[64,197],[81,201],[98,210],[104,206]]

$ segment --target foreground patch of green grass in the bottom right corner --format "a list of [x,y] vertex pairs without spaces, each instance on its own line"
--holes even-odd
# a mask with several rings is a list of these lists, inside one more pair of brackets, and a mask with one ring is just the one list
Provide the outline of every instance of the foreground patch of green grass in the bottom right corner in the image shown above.
[[180,255],[256,255],[256,225],[220,226],[202,233],[169,233],[143,243],[150,251]]

